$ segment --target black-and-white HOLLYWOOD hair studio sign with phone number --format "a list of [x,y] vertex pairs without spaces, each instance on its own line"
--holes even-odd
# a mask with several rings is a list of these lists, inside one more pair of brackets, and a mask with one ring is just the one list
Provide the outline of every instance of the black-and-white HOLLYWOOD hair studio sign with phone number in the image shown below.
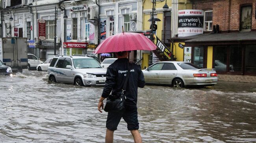
[[192,36],[204,32],[204,11],[186,9],[178,11],[178,36]]

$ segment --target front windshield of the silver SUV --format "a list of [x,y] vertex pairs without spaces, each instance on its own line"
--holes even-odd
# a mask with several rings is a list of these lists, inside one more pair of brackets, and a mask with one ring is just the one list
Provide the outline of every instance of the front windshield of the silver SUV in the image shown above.
[[74,67],[76,69],[85,69],[85,68],[102,68],[96,60],[93,58],[79,58],[73,59]]

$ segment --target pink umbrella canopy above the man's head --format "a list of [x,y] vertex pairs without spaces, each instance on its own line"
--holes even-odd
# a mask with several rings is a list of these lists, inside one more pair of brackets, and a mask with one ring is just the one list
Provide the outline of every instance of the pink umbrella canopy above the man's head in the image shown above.
[[121,52],[134,50],[156,50],[156,45],[146,36],[139,33],[119,33],[110,36],[100,43],[95,49],[95,53]]

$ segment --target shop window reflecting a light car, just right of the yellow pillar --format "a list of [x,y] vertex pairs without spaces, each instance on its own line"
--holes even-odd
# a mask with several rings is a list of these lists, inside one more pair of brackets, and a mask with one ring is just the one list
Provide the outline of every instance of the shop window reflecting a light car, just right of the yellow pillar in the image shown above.
[[214,49],[214,66],[216,71],[226,72],[227,65],[227,47],[216,46]]

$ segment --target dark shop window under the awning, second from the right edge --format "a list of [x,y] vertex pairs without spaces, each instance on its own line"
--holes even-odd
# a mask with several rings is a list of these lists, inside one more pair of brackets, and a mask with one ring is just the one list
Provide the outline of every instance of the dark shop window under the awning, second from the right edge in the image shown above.
[[231,72],[242,71],[242,47],[230,46],[229,68]]

